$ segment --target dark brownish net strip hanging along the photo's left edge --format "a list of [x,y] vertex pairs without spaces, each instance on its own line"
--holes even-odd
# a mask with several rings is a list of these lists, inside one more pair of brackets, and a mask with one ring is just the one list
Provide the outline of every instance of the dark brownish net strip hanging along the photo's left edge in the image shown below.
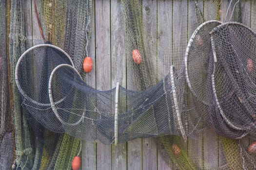
[[7,1],[0,0],[0,169],[10,169],[13,160],[12,121],[9,103],[7,57]]

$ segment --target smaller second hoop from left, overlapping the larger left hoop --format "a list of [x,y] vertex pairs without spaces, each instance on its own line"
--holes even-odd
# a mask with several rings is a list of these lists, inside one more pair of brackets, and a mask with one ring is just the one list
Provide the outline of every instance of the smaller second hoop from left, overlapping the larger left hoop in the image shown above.
[[57,108],[56,108],[56,106],[55,106],[56,104],[58,104],[59,101],[58,101],[58,102],[54,102],[54,101],[53,101],[53,95],[52,95],[52,79],[53,79],[53,76],[54,76],[55,72],[56,72],[59,68],[63,68],[63,67],[67,67],[67,68],[72,69],[72,71],[74,71],[75,73],[77,73],[77,74],[79,75],[79,78],[80,78],[81,80],[83,80],[82,77],[81,77],[81,75],[79,74],[79,71],[78,71],[75,67],[73,67],[73,66],[71,66],[71,65],[68,65],[68,64],[60,64],[59,66],[57,66],[56,68],[54,68],[54,69],[52,70],[52,72],[51,72],[51,75],[50,75],[50,78],[49,78],[49,84],[48,84],[48,93],[49,93],[50,105],[51,105],[51,108],[52,108],[52,110],[53,110],[53,112],[54,112],[56,118],[57,118],[63,125],[65,125],[65,126],[76,126],[76,125],[78,125],[80,122],[83,121],[85,112],[83,112],[81,118],[80,118],[77,122],[75,122],[75,123],[67,123],[67,122],[65,122],[63,119],[60,118],[59,113],[58,113],[58,110],[57,110]]

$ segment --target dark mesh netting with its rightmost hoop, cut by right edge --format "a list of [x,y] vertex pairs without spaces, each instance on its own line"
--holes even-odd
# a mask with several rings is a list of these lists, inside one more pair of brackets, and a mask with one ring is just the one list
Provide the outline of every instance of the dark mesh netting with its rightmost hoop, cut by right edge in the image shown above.
[[[211,35],[215,57],[212,85],[218,110],[232,133],[255,134],[256,35],[236,22],[220,25]],[[225,133],[224,136],[235,137],[228,130]]]

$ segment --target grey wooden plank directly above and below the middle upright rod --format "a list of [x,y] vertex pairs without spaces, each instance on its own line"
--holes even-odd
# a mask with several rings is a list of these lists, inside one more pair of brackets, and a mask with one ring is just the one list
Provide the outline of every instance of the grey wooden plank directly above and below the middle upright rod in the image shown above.
[[[120,0],[111,0],[111,85],[126,87],[124,18]],[[112,144],[112,170],[127,170],[127,143]]]

